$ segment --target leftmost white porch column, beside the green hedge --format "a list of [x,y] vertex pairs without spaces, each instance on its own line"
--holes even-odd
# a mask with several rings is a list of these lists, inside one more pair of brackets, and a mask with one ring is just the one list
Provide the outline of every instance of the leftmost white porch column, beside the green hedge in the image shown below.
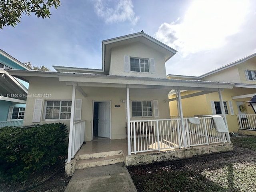
[[77,86],[77,83],[73,82],[69,139],[68,139],[68,161],[67,161],[68,163],[71,161],[71,155],[72,155],[72,138],[73,138],[73,125],[74,125],[76,86]]

